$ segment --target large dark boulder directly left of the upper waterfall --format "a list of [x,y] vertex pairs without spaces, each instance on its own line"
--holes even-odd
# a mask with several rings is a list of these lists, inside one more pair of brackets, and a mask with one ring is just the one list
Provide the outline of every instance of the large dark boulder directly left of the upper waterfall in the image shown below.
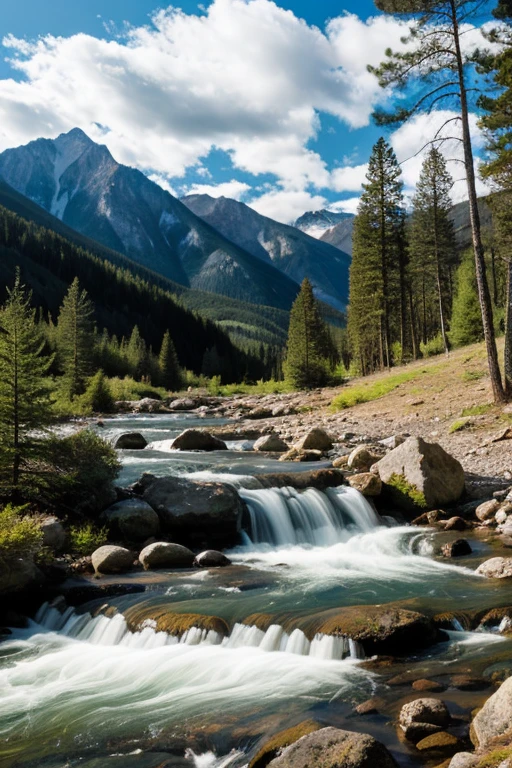
[[226,549],[238,542],[245,505],[231,485],[146,474],[138,486],[174,541],[198,549]]

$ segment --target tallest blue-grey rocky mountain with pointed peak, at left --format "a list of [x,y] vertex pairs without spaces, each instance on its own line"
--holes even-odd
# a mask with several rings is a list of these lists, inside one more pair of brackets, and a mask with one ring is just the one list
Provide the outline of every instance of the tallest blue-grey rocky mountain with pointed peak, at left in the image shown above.
[[0,177],[72,229],[182,285],[281,309],[297,295],[279,269],[78,128],[5,150]]

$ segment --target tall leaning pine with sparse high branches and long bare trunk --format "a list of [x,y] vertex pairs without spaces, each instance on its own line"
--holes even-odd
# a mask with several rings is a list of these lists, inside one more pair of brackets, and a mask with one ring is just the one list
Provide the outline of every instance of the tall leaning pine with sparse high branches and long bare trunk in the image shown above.
[[487,283],[469,122],[468,98],[473,88],[468,88],[468,82],[475,75],[475,56],[472,50],[462,45],[461,38],[461,28],[471,24],[471,20],[481,14],[485,3],[482,0],[375,0],[375,4],[379,10],[397,15],[410,23],[409,35],[404,38],[405,48],[401,52],[386,51],[387,60],[377,68],[370,67],[382,87],[391,86],[402,97],[394,112],[378,111],[375,114],[377,121],[381,124],[400,123],[418,112],[431,112],[439,104],[445,109],[452,106],[458,111],[457,116],[447,118],[442,128],[432,136],[432,143],[447,141],[448,137],[443,134],[444,127],[448,123],[453,124],[455,120],[460,123],[475,274],[489,374],[494,399],[503,402],[506,396],[501,380]]

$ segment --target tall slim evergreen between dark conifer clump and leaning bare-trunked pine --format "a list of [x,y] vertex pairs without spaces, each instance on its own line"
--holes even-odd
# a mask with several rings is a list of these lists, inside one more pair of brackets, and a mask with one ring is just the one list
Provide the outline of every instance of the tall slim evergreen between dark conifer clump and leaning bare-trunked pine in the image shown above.
[[[447,171],[441,152],[432,147],[428,153],[416,187],[413,201],[410,237],[410,272],[413,292],[420,293],[422,336],[441,334],[448,352],[449,270],[456,258],[453,224],[448,216],[452,207],[450,190],[453,179]],[[438,322],[427,324],[427,304],[437,299]]]

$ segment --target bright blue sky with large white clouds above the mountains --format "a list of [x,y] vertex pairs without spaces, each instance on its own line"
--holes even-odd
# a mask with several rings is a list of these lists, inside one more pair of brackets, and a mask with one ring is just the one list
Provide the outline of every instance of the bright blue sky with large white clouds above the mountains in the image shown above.
[[[178,195],[225,194],[283,221],[355,210],[382,132],[366,65],[404,31],[370,0],[5,5],[0,150],[79,125]],[[399,160],[429,128],[388,134]],[[409,190],[420,163],[404,166]]]

